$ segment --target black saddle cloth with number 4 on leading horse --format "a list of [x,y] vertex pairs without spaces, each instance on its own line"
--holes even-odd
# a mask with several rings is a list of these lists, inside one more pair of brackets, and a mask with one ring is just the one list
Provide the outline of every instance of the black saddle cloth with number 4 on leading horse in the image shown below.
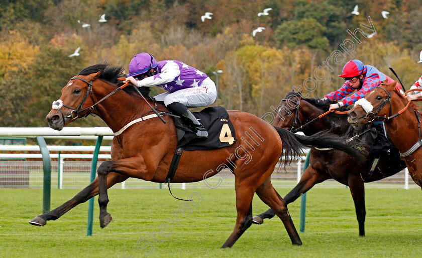
[[[200,112],[193,112],[193,115],[208,131],[208,138],[196,138],[195,132],[185,125],[181,118],[173,117],[177,132],[177,147],[183,147],[184,150],[210,150],[224,148],[237,141],[235,128],[225,108],[208,107]],[[221,135],[223,141],[220,139]],[[230,137],[233,139],[225,141]]]

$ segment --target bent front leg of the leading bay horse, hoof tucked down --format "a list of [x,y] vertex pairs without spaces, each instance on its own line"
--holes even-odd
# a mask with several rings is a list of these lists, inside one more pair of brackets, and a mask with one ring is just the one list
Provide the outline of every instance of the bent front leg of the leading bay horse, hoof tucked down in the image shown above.
[[[148,173],[148,171],[152,171]],[[99,225],[101,228],[109,225],[112,216],[107,212],[109,197],[107,194],[107,176],[109,173],[118,173],[124,177],[139,178],[151,181],[155,169],[148,169],[142,156],[131,158],[108,160],[98,167],[98,205],[99,205]]]

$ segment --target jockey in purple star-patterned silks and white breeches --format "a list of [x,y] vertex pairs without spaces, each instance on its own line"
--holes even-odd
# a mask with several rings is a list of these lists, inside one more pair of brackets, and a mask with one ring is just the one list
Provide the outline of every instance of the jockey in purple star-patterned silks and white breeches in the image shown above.
[[177,60],[157,62],[144,52],[132,58],[126,81],[137,87],[158,86],[166,90],[154,99],[163,101],[170,111],[184,118],[196,131],[197,138],[208,137],[206,129],[188,109],[208,106],[216,101],[216,84],[204,72]]

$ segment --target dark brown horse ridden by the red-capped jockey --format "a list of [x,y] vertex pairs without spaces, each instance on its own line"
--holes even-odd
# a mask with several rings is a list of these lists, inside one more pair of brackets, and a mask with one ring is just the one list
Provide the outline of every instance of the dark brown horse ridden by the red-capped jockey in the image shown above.
[[[352,133],[360,136],[352,142],[360,148],[369,151],[370,133],[362,133],[366,126],[360,126],[356,130],[350,131],[350,124],[347,115],[328,113],[320,119],[315,119],[328,111],[328,105],[335,103],[331,100],[320,100],[318,98],[301,98],[297,92],[290,92],[280,102],[275,111],[274,126],[279,126],[287,130],[301,131],[305,135],[313,135],[316,132],[331,130],[331,132],[350,138]],[[346,108],[341,108],[345,110]],[[305,125],[307,122],[314,122]],[[349,132],[348,132],[349,131]],[[338,150],[318,150],[312,148],[309,156],[309,166],[303,171],[299,183],[283,198],[286,204],[294,202],[299,196],[306,193],[314,185],[322,183],[328,179],[349,186],[355,204],[356,217],[359,224],[359,235],[365,235],[365,187],[364,183],[381,180],[398,173],[404,168],[397,156],[380,155],[378,168],[372,174],[368,170],[372,164],[373,155],[365,152],[365,157],[355,160],[349,155]],[[393,156],[393,155],[391,155]],[[370,175],[370,177],[368,177]],[[274,211],[268,211],[253,217],[255,224],[262,224],[266,218],[272,218]]]

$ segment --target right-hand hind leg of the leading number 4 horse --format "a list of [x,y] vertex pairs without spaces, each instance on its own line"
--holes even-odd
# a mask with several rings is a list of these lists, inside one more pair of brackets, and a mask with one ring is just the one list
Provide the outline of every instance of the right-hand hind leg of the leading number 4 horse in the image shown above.
[[275,214],[281,219],[287,233],[290,236],[291,243],[294,245],[302,245],[299,234],[294,227],[293,221],[291,220],[289,211],[287,210],[287,204],[275,191],[271,184],[271,179],[268,178],[261,186],[256,190],[258,197],[275,212]]

